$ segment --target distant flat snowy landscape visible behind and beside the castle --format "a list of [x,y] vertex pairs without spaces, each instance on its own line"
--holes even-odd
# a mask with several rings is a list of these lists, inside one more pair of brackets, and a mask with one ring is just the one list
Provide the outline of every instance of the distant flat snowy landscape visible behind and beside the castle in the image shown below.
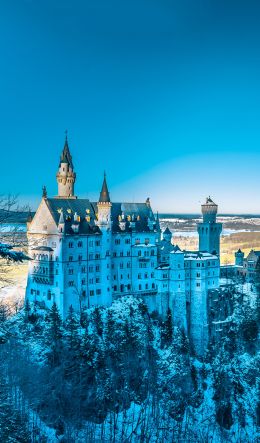
[[[19,231],[23,240],[26,240],[27,213],[14,213],[8,218],[9,223],[1,226],[1,241],[8,241],[13,230]],[[196,250],[198,248],[198,235],[196,223],[201,220],[199,214],[160,214],[162,231],[168,226],[173,233],[173,243],[181,249]],[[223,223],[221,236],[221,263],[234,263],[234,253],[241,248],[245,254],[251,249],[260,249],[260,215],[232,215],[221,214],[218,221]],[[4,289],[0,288],[0,298],[23,299],[27,263],[10,265],[10,284]],[[12,282],[15,282],[12,283]]]

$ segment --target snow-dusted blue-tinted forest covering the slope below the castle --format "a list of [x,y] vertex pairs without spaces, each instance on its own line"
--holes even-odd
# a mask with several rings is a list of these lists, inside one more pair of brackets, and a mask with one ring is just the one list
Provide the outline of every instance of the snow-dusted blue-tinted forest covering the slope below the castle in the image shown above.
[[0,307],[1,442],[256,442],[259,303],[194,355],[184,331],[142,300],[62,322],[27,302]]

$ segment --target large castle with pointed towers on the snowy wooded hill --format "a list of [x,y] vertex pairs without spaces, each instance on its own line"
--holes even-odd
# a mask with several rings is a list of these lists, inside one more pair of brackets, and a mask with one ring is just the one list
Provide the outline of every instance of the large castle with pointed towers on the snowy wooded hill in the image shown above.
[[208,198],[198,223],[199,251],[181,251],[162,233],[150,200],[111,202],[106,175],[97,202],[77,198],[67,137],[56,175],[58,195],[42,200],[27,223],[26,299],[42,308],[56,302],[66,317],[72,305],[110,306],[122,295],[141,297],[150,312],[185,329],[197,353],[207,344],[207,294],[219,286],[222,225]]

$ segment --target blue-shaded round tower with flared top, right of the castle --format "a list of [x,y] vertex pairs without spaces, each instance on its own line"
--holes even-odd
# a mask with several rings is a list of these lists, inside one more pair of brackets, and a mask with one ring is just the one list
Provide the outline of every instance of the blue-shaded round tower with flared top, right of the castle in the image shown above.
[[199,250],[210,254],[220,253],[220,234],[222,223],[217,223],[218,205],[208,197],[206,203],[201,205],[203,222],[197,224],[199,233]]

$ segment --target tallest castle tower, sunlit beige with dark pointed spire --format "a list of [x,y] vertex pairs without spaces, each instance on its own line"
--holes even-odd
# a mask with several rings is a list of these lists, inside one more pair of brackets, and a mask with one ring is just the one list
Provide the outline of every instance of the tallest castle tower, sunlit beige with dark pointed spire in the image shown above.
[[76,198],[74,196],[74,183],[76,174],[74,172],[72,157],[69,150],[67,134],[64,148],[61,153],[59,169],[56,174],[58,183],[58,195],[56,198]]

